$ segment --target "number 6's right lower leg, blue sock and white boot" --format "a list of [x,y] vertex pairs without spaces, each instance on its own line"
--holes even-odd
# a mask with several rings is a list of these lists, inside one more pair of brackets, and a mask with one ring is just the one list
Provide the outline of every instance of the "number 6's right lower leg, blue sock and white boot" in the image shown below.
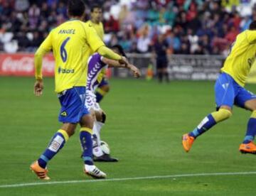
[[92,160],[92,116],[90,114],[83,115],[80,126],[80,143],[83,149],[82,159],[85,163],[84,171],[93,178],[106,178],[107,175],[99,170]]

